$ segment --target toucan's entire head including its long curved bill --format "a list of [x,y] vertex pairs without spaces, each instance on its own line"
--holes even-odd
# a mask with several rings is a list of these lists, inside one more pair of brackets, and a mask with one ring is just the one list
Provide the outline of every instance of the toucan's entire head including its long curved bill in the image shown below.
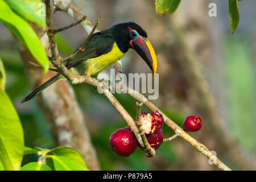
[[115,24],[112,30],[118,48],[123,53],[127,52],[129,48],[133,48],[155,74],[157,68],[156,55],[147,40],[146,31],[134,22]]

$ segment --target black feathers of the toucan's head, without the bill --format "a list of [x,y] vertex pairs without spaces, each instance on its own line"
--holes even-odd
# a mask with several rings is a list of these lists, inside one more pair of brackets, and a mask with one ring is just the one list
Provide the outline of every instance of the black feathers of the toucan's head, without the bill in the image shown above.
[[113,26],[113,35],[115,42],[123,53],[127,52],[129,48],[132,48],[129,42],[133,39],[133,35],[136,36],[136,33],[130,33],[131,30],[135,30],[136,32],[138,32],[139,35],[147,38],[146,31],[144,31],[143,28],[137,23],[119,23]]

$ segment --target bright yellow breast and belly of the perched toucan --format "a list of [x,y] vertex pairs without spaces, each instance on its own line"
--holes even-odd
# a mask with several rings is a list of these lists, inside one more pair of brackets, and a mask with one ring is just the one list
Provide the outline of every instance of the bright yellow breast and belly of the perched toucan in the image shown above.
[[115,61],[118,61],[119,59],[121,59],[121,57],[123,57],[125,54],[126,53],[123,53],[122,51],[120,51],[120,49],[117,46],[117,43],[114,42],[113,48],[110,52],[85,61],[85,64],[86,64],[85,75],[87,76],[98,75],[98,73],[100,73],[102,70],[109,67],[113,63],[115,63]]

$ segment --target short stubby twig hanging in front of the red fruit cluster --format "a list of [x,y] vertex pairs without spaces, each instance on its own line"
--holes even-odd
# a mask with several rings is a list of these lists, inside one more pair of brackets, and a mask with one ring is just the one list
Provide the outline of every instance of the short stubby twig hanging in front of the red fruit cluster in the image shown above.
[[148,143],[147,137],[144,134],[144,131],[142,129],[142,122],[141,122],[141,106],[142,106],[142,103],[141,102],[136,102],[136,104],[137,104],[137,114],[136,114],[136,121],[135,122],[136,122],[136,125],[137,125],[138,130],[139,130],[139,134],[141,135],[142,142],[143,142],[143,146],[141,146],[141,147],[147,153],[148,158],[152,158],[152,157],[156,158],[155,150]]

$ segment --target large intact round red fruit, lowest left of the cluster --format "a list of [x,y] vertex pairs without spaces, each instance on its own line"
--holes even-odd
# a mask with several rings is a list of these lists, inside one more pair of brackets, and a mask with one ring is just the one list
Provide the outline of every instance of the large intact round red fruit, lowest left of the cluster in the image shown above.
[[115,131],[109,138],[109,146],[115,154],[129,157],[138,147],[138,140],[133,131],[123,128]]

